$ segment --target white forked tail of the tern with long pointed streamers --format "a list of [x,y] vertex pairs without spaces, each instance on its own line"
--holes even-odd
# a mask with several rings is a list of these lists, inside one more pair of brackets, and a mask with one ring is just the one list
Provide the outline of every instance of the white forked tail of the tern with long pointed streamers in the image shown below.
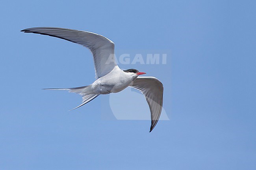
[[[49,89],[43,89],[43,90],[67,90],[69,92],[82,95],[83,96],[82,104],[80,104],[76,108],[83,106],[84,104],[92,101],[93,99],[95,99],[98,96],[97,94],[92,94],[91,85],[77,87],[77,88],[49,88]],[[74,108],[74,109],[76,109],[76,108]],[[74,109],[71,109],[71,110],[74,110]]]

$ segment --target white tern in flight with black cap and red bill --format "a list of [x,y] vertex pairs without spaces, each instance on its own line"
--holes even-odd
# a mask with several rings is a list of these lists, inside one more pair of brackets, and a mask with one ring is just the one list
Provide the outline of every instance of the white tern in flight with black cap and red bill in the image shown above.
[[163,107],[163,84],[156,77],[138,77],[146,73],[139,72],[137,69],[120,69],[113,58],[115,44],[111,40],[88,31],[57,27],[33,27],[21,31],[68,40],[86,47],[93,55],[95,82],[88,86],[76,88],[50,88],[46,90],[67,90],[82,95],[82,104],[76,107],[79,108],[99,95],[118,93],[130,86],[141,91],[145,96],[151,112],[150,132],[154,129]]

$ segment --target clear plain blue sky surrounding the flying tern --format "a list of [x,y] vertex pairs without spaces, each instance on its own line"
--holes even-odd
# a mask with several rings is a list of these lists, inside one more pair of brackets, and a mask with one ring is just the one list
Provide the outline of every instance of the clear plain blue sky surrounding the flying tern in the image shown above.
[[[0,8],[1,170],[256,168],[255,1],[2,1]],[[148,133],[150,121],[115,119],[109,95],[69,112],[79,95],[41,89],[91,84],[93,59],[77,44],[20,32],[37,26],[99,33],[119,51],[171,51],[167,64],[120,64],[163,82],[170,120]],[[136,94],[128,97],[141,105],[130,109],[149,114]]]

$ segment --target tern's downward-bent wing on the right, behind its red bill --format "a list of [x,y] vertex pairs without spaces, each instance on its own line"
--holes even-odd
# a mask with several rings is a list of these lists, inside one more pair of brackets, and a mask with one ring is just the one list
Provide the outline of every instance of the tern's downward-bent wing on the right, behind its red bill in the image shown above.
[[163,107],[163,84],[156,77],[138,77],[130,86],[141,91],[148,102],[151,112],[151,132],[159,120]]

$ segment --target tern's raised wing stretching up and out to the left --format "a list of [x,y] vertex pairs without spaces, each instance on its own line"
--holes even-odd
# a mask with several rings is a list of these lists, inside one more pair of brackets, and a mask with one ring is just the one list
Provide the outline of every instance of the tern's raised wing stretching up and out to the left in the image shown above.
[[55,27],[34,27],[21,31],[61,38],[88,48],[93,54],[96,79],[108,74],[117,66],[115,58],[113,57],[115,44],[102,35],[87,31]]

